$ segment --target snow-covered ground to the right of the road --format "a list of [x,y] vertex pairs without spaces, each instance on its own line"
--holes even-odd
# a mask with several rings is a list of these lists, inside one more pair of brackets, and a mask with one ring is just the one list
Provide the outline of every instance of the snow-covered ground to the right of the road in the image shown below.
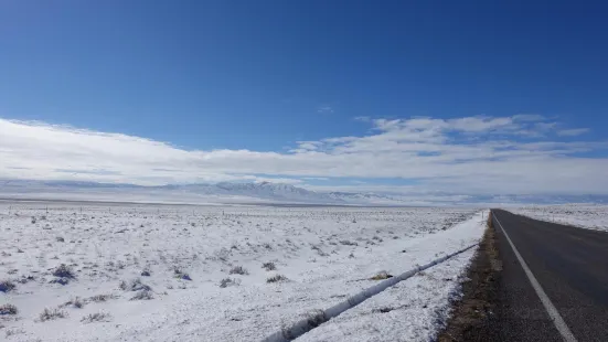
[[531,205],[513,209],[511,212],[536,220],[608,232],[608,205]]

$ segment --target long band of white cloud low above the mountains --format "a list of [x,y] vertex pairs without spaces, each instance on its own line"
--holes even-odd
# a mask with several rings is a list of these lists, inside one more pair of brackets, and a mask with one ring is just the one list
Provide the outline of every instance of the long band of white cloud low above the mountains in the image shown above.
[[608,142],[518,141],[518,132],[534,131],[535,124],[516,116],[376,119],[367,136],[259,152],[185,150],[121,133],[0,119],[0,178],[138,184],[360,178],[369,186],[373,179],[401,178],[425,191],[608,193],[608,159],[576,157],[606,150]]

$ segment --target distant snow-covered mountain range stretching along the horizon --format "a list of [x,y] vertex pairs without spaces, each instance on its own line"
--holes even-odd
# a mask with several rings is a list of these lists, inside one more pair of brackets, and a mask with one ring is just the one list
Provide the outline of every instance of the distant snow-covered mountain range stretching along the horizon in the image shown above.
[[608,195],[316,192],[290,184],[270,182],[142,186],[81,181],[0,180],[0,197],[192,204],[516,205],[608,203]]

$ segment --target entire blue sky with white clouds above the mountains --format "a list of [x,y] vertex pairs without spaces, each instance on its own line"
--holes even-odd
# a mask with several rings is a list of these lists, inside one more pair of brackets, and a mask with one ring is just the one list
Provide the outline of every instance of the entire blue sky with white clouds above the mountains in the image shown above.
[[0,178],[608,194],[608,7],[2,1]]

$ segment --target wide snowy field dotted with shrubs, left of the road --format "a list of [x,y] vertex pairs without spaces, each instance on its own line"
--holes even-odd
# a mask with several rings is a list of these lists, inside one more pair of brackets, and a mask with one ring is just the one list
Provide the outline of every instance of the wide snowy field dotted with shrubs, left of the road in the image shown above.
[[[471,209],[2,203],[0,340],[258,341],[483,228]],[[297,341],[428,341],[473,253]]]

